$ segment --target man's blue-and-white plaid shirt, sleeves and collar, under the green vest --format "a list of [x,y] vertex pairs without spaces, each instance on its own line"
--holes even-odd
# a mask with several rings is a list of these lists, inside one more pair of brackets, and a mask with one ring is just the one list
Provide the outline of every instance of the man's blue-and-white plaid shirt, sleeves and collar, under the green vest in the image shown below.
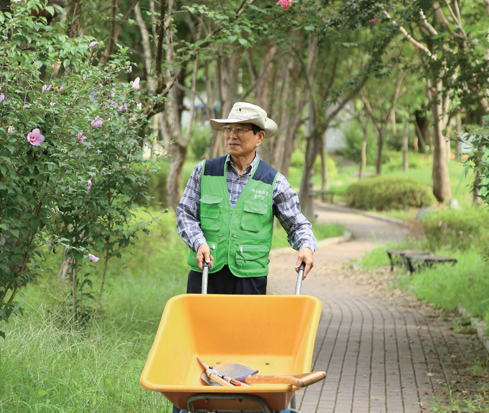
[[[242,176],[238,174],[229,155],[226,159],[226,181],[229,191],[229,204],[234,208],[236,201],[243,192],[244,185],[248,182],[249,173],[258,163],[258,154],[251,164],[244,170]],[[205,237],[200,229],[200,179],[202,177],[203,161],[199,162],[192,171],[187,186],[183,191],[177,206],[177,229],[180,237],[193,251],[197,251],[204,244]],[[245,176],[247,175],[247,176]],[[278,174],[273,187],[273,215],[276,216],[287,232],[290,246],[300,251],[308,247],[314,252],[317,248],[317,240],[312,233],[312,225],[301,213],[299,197],[292,190],[287,179]]]

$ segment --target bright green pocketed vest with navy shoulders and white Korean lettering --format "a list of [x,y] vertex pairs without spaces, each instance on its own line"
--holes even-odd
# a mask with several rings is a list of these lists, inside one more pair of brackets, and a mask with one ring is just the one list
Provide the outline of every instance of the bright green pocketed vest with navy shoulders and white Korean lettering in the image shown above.
[[[209,273],[227,264],[238,277],[267,275],[273,231],[273,186],[278,172],[258,161],[231,209],[226,158],[204,161],[200,182],[200,227],[214,257]],[[191,250],[188,264],[194,271],[200,271],[196,257],[197,253]]]

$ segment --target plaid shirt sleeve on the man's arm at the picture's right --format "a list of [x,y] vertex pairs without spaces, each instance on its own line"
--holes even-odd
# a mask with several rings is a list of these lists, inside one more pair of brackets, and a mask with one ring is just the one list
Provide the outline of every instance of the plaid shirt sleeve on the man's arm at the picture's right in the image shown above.
[[305,247],[316,251],[317,240],[312,225],[302,214],[299,197],[282,174],[277,176],[273,188],[273,207],[274,215],[287,232],[290,246],[296,251]]

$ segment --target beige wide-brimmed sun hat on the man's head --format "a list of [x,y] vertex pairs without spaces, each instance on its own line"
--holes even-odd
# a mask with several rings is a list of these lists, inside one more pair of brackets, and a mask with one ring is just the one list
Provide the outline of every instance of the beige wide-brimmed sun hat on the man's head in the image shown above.
[[267,112],[246,102],[236,102],[227,119],[210,119],[210,122],[216,131],[226,123],[254,123],[265,131],[265,138],[275,135],[278,130],[277,124],[267,117]]

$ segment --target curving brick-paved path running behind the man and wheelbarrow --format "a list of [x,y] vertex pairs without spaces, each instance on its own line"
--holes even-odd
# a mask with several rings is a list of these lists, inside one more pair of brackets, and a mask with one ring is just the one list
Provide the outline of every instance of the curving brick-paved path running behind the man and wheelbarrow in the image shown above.
[[[457,334],[429,306],[388,290],[359,285],[348,265],[363,253],[405,233],[369,217],[319,211],[318,220],[344,222],[357,238],[321,243],[302,294],[319,298],[319,323],[312,370],[327,371],[320,383],[296,392],[301,413],[418,413],[428,411],[434,396],[446,403],[447,385],[456,388],[470,366],[487,352],[474,335]],[[357,230],[356,230],[357,229]],[[371,234],[375,233],[375,242]],[[270,257],[268,292],[293,294],[297,253]],[[383,277],[391,276],[383,270]],[[375,275],[374,275],[375,278]]]

